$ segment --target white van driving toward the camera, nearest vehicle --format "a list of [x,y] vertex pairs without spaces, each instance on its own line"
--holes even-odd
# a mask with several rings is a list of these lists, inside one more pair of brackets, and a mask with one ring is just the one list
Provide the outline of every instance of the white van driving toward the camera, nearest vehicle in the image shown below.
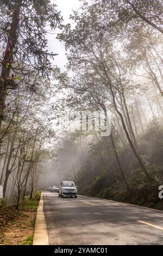
[[77,186],[73,181],[62,181],[59,186],[59,197],[69,196],[77,198]]

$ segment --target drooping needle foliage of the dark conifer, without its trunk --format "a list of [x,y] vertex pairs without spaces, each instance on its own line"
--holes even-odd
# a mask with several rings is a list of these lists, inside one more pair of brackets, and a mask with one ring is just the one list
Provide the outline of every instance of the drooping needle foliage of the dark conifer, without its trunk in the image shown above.
[[[3,17],[0,19],[1,41],[6,42],[7,40],[10,22],[16,8],[18,25],[13,39],[15,39],[14,43],[16,43],[18,51],[13,52],[14,57],[19,59],[24,66],[25,63],[28,66],[31,65],[33,71],[35,70],[47,75],[52,70],[49,58],[53,58],[57,54],[47,51],[46,26],[48,24],[52,29],[55,29],[62,20],[56,5],[47,0],[1,2],[0,11],[3,13]],[[26,38],[24,38],[23,34],[26,34]],[[34,61],[32,56],[35,56]],[[9,63],[7,63],[7,68],[9,68]],[[12,67],[13,69],[14,66]],[[20,74],[16,69],[14,71]],[[19,77],[16,77],[19,80]]]

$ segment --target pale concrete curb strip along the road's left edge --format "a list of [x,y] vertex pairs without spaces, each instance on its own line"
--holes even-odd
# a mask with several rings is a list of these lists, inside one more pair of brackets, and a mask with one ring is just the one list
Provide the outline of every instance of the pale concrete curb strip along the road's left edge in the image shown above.
[[37,208],[33,245],[49,245],[47,226],[43,213],[43,194],[41,193]]

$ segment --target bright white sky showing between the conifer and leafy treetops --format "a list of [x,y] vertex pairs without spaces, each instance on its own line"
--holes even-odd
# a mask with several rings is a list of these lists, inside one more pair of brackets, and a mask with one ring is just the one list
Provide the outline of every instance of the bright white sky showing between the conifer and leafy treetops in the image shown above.
[[[77,10],[80,6],[79,0],[55,0],[51,1],[58,5],[57,9],[61,11],[61,16],[63,17],[63,23],[71,23],[72,21],[69,19],[70,14],[72,14],[72,9]],[[55,56],[53,61],[53,65],[57,65],[61,71],[64,71],[64,66],[66,65],[67,59],[65,56],[65,46],[63,42],[60,42],[55,37],[57,36],[58,31],[55,34],[48,34],[48,50],[53,53],[57,53],[58,56]]]

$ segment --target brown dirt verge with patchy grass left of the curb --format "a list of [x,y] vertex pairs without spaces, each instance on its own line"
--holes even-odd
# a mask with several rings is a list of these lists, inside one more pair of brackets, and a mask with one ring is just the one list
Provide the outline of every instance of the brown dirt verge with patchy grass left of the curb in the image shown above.
[[0,204],[0,245],[32,245],[36,211],[39,205],[41,191],[33,194],[30,201],[26,196],[19,209],[7,206],[4,199]]

